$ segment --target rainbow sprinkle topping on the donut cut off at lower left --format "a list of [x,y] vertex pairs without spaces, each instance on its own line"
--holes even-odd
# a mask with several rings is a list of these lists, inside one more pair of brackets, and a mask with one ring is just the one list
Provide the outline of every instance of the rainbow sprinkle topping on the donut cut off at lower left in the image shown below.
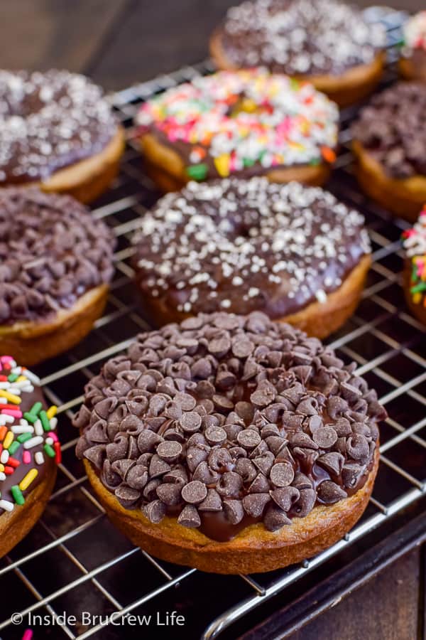
[[[0,356],[0,513],[25,503],[26,492],[33,488],[48,457],[60,462],[55,433],[58,407],[45,411],[42,402],[35,402],[28,411],[20,409],[21,403],[28,406],[25,394],[38,385],[34,373],[18,366],[11,356]],[[8,476],[12,482],[5,489],[2,485]]]

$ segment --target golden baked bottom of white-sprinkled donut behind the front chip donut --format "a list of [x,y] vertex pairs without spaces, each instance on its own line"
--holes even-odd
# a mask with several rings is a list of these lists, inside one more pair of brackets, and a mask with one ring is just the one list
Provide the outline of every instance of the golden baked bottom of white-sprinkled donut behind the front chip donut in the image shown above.
[[[366,275],[371,266],[371,256],[361,257],[358,265],[346,276],[339,289],[327,295],[325,302],[311,302],[304,309],[294,314],[273,318],[278,322],[288,322],[306,331],[309,336],[325,338],[339,329],[354,313],[364,289]],[[136,272],[137,279],[137,272]],[[191,314],[185,314],[175,308],[170,308],[158,298],[143,295],[143,310],[155,326],[163,326],[170,322],[180,322]],[[252,309],[253,311],[254,309]],[[263,309],[258,309],[263,311]],[[234,311],[238,313],[238,311]]]

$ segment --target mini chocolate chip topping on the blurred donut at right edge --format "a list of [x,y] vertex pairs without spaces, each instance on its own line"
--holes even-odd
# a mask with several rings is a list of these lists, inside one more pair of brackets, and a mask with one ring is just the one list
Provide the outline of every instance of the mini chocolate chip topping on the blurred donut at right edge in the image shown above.
[[426,85],[400,82],[373,97],[353,134],[392,178],[426,176]]

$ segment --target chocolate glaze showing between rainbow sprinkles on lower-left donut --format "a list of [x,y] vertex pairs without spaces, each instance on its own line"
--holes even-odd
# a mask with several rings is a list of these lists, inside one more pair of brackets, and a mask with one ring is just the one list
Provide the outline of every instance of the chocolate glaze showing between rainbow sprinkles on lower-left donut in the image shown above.
[[[10,370],[5,370],[0,363],[0,375],[1,374],[8,375],[9,373],[10,373]],[[19,408],[21,409],[22,413],[30,410],[35,402],[41,402],[43,405],[43,409],[48,408],[48,405],[43,395],[43,391],[38,386],[34,386],[34,390],[32,393],[23,392],[21,395],[21,398],[22,398],[22,402],[19,405]],[[0,405],[0,410],[1,410],[1,405]],[[18,425],[18,424],[19,424],[19,420],[15,419],[13,421],[13,424],[7,425],[7,426],[8,428],[10,428],[10,427],[13,427],[13,425]],[[34,458],[34,454],[36,452],[43,452],[43,446],[45,444],[44,441],[46,436],[47,436],[47,433],[44,432],[43,443],[38,444],[36,447],[33,447],[33,449],[31,449],[32,459]],[[23,491],[24,497],[27,496],[31,491],[33,491],[33,489],[35,489],[35,487],[38,486],[38,484],[40,484],[40,482],[42,482],[43,479],[45,479],[45,476],[47,474],[52,473],[53,468],[55,466],[55,459],[50,458],[45,454],[43,454],[45,459],[44,464],[35,465],[34,462],[32,462],[31,464],[24,464],[22,462],[23,452],[24,452],[24,449],[23,449],[23,446],[21,445],[21,447],[19,447],[19,449],[17,449],[17,451],[13,454],[13,458],[18,460],[21,464],[19,464],[19,466],[16,467],[15,471],[13,471],[13,474],[11,474],[10,476],[6,476],[5,480],[0,481],[1,498],[13,503],[14,503],[14,499],[11,494],[11,487],[16,484],[19,484],[21,480],[26,476],[26,474],[28,474],[28,471],[31,469],[31,467],[33,466],[36,467],[36,469],[38,470],[38,475],[35,477],[35,479],[31,483],[31,486],[28,487],[26,491]],[[0,508],[0,516],[3,513],[5,513],[4,509]]]

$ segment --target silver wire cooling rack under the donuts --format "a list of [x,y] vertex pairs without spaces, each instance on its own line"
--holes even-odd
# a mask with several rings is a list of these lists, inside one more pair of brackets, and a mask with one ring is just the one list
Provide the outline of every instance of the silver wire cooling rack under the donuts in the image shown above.
[[[370,10],[371,13],[371,10]],[[404,14],[373,14],[386,24],[392,45]],[[422,326],[408,312],[400,287],[400,233],[407,227],[360,193],[352,175],[348,124],[354,109],[342,114],[342,153],[329,188],[366,216],[373,244],[373,266],[356,314],[329,344],[345,361],[358,363],[359,375],[378,390],[389,418],[381,430],[381,464],[366,513],[344,540],[312,560],[273,573],[248,576],[205,575],[168,565],[134,548],[109,523],[75,459],[77,434],[70,424],[82,401],[84,384],[107,358],[122,351],[139,331],[148,329],[132,285],[130,238],[141,216],[159,194],[143,175],[131,125],[138,106],[155,93],[208,73],[202,63],[164,75],[111,96],[119,118],[129,129],[129,144],[114,186],[97,203],[93,215],[116,233],[116,276],[104,316],[77,348],[37,368],[45,393],[59,407],[63,462],[48,507],[31,533],[0,562],[0,636],[21,638],[31,626],[34,638],[80,640],[141,637],[173,633],[176,639],[211,639],[232,635],[272,596],[283,606],[297,582],[327,561],[356,548],[375,528],[383,527],[426,492],[426,344]],[[384,84],[395,80],[392,63]],[[384,533],[383,533],[384,535]],[[341,563],[342,565],[342,563]],[[185,624],[170,626],[170,614]],[[82,617],[85,612],[85,617]],[[13,617],[15,613],[15,617]],[[18,614],[18,617],[16,617]],[[114,623],[105,626],[114,614]],[[146,615],[132,626],[128,615]],[[19,616],[21,615],[22,624]],[[151,616],[151,618],[149,618]],[[42,617],[42,618],[40,618]],[[41,623],[41,624],[40,624]],[[231,634],[229,636],[229,634]]]

